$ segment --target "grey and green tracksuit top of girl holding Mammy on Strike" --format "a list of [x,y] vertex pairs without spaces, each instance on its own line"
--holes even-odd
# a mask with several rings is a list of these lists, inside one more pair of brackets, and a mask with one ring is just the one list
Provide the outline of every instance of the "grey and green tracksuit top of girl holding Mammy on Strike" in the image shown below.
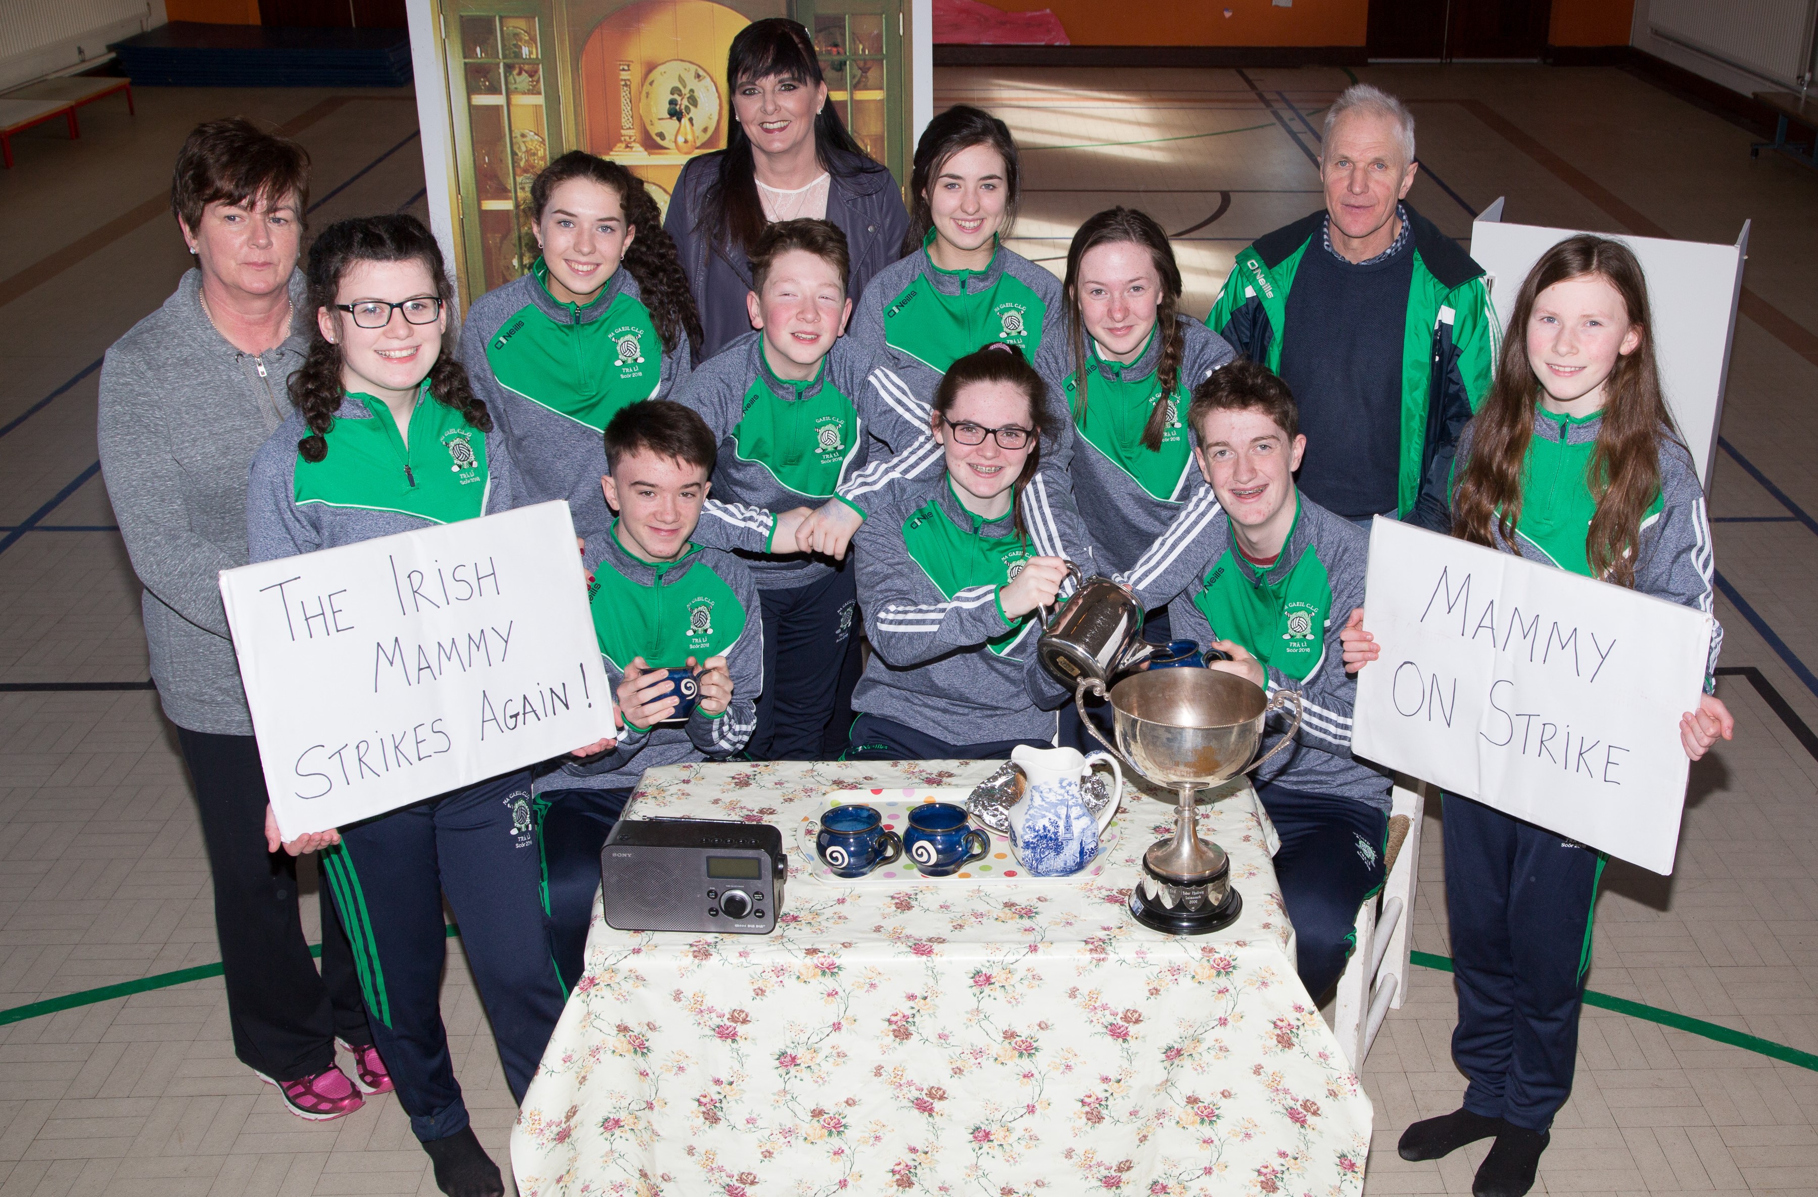
[[[1534,435],[1522,462],[1522,511],[1514,522],[1518,557],[1593,577],[1585,538],[1596,497],[1589,469],[1603,413],[1573,418],[1551,415],[1534,404]],[[1458,438],[1458,473],[1471,460],[1476,426]],[[1502,531],[1491,528],[1496,548],[1511,551]],[[1678,435],[1660,429],[1660,495],[1642,517],[1636,538],[1634,589],[1711,615],[1711,651],[1705,659],[1705,693],[1716,693],[1716,659],[1723,648],[1723,624],[1716,622],[1711,551],[1711,515],[1693,455]]]

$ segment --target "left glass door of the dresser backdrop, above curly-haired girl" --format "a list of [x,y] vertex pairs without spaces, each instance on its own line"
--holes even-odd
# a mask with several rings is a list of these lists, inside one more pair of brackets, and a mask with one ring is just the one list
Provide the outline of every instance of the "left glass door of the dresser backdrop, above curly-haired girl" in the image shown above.
[[465,0],[445,20],[471,300],[536,260],[531,182],[562,146],[558,58],[534,0]]

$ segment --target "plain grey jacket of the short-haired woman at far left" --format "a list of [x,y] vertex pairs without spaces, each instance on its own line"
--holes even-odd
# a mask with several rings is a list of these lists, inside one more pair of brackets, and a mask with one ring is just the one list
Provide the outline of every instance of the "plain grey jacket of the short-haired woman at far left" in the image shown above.
[[202,271],[191,269],[102,364],[102,480],[144,586],[158,699],[191,731],[253,735],[218,575],[247,564],[247,469],[291,413],[285,387],[307,346],[300,273],[291,302],[291,337],[262,357],[240,353],[202,313]]

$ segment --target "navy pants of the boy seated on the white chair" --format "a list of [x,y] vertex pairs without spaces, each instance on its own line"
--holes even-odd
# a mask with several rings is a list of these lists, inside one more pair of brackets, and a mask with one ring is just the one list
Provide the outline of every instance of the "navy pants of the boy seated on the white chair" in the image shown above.
[[1358,908],[1389,871],[1389,813],[1351,799],[1256,786],[1282,839],[1274,875],[1294,924],[1296,971],[1313,1001],[1325,997],[1358,944]]

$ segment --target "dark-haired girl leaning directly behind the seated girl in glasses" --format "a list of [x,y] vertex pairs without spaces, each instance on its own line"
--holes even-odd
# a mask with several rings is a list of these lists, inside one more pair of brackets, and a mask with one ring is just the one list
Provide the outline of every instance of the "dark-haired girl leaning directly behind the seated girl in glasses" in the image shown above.
[[[798,531],[802,542],[844,546],[893,478],[918,478],[940,464],[929,411],[958,358],[1002,342],[1047,378],[1067,373],[1060,284],[1002,244],[1016,220],[1020,176],[1009,126],[984,109],[949,107],[922,131],[909,184],[909,256],[871,280],[847,331],[853,351],[871,362],[860,415],[884,449],[840,488],[849,508],[816,511]],[[1091,573],[1093,546],[1069,480],[1073,424],[1058,395],[1044,402],[1042,464],[1018,488],[1018,502],[1044,555],[1071,557]]]

